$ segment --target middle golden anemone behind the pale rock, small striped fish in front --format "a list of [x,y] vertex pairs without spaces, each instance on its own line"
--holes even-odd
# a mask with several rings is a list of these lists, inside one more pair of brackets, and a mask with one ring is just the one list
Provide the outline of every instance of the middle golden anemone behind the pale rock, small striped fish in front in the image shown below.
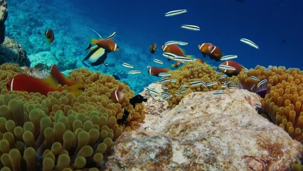
[[[168,88],[167,92],[171,95],[169,98],[169,107],[174,108],[178,105],[185,95],[195,91],[222,90],[224,88],[223,81],[228,81],[230,78],[220,79],[223,73],[216,72],[216,68],[205,66],[201,63],[191,62],[181,68],[170,71],[169,83],[164,83],[163,86]],[[191,85],[195,81],[200,81],[197,85]],[[203,83],[201,83],[203,81]],[[182,90],[186,90],[182,93]]]

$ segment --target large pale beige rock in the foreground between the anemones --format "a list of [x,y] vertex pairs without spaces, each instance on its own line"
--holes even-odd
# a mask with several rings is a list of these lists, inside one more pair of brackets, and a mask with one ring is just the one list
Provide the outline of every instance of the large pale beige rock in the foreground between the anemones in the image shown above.
[[289,170],[299,161],[303,145],[257,113],[258,95],[215,92],[191,93],[160,116],[146,115],[115,141],[107,170]]

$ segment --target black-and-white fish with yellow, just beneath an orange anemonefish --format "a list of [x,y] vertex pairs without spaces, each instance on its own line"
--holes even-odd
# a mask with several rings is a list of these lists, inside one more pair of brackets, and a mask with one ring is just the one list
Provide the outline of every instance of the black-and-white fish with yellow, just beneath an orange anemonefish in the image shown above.
[[[105,48],[100,48],[99,46],[95,45],[90,48],[90,52],[87,54],[87,56],[82,60],[83,65],[85,65],[87,68],[90,68],[90,66],[99,66],[102,63],[107,66],[107,63],[105,62],[107,58],[107,51],[105,51]],[[85,63],[85,61],[88,61],[90,66]]]

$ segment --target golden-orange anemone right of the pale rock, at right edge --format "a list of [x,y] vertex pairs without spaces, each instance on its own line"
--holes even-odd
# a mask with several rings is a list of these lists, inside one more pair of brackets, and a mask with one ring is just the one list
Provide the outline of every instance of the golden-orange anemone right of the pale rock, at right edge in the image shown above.
[[[298,68],[256,66],[238,75],[240,88],[252,92],[266,90],[261,99],[262,111],[273,123],[303,143],[303,72]],[[260,81],[267,80],[262,86]]]

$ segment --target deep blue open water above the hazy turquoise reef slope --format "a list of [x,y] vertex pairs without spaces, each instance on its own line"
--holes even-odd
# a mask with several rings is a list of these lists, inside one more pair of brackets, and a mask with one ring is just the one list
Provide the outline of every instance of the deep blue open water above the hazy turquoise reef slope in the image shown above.
[[[225,55],[246,68],[256,65],[303,68],[302,0],[212,0],[212,1],[73,1],[75,12],[100,26],[100,31],[117,31],[119,40],[132,46],[161,46],[165,41],[188,41],[187,54],[203,58],[198,44],[211,42]],[[165,17],[167,11],[187,9],[186,14]],[[181,24],[194,24],[201,31],[188,31]],[[108,29],[110,28],[110,29]],[[112,30],[111,30],[112,29]],[[242,42],[248,38],[259,50]],[[160,50],[160,49],[159,49]],[[161,52],[161,51],[160,51]],[[160,53],[158,53],[160,55]],[[218,65],[216,61],[211,64]]]

